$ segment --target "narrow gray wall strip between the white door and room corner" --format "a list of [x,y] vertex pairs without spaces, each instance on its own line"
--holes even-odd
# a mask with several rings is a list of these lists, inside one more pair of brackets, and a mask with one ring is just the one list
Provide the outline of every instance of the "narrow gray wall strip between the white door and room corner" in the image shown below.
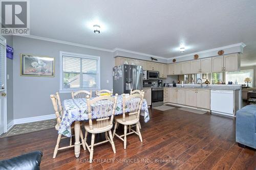
[[[13,36],[4,36],[8,45],[13,46]],[[13,60],[6,59],[6,71],[9,75],[7,80],[7,124],[13,120]]]

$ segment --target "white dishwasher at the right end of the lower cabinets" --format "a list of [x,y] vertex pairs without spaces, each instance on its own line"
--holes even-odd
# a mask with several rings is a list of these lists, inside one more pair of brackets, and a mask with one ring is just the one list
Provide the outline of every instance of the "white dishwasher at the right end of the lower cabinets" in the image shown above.
[[212,113],[233,116],[233,109],[233,90],[210,90],[210,110]]

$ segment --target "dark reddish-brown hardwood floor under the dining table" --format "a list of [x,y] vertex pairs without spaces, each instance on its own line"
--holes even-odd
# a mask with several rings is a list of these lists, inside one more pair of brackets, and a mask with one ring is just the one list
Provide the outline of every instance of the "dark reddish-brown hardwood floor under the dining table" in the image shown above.
[[[214,114],[195,114],[172,109],[150,109],[150,122],[141,119],[143,142],[135,134],[127,137],[127,148],[114,138],[116,154],[110,143],[94,148],[95,162],[89,152],[79,159],[74,149],[58,151],[52,159],[57,131],[49,129],[0,139],[0,159],[40,150],[41,169],[255,169],[256,152],[240,148],[235,141],[235,120]],[[142,117],[141,117],[142,118]],[[119,131],[123,127],[118,128]],[[120,133],[120,132],[119,132]],[[103,134],[96,136],[104,138]],[[88,137],[90,141],[90,136]],[[68,144],[64,139],[61,144]]]

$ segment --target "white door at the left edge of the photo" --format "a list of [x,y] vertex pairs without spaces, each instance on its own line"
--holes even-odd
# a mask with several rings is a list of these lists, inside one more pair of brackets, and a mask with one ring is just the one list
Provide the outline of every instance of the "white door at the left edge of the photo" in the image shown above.
[[[0,37],[0,135],[6,132],[6,43]],[[3,88],[2,88],[3,87]]]

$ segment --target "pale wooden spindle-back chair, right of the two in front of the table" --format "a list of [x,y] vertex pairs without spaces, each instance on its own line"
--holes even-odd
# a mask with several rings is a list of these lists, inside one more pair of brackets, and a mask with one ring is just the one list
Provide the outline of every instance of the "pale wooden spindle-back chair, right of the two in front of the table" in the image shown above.
[[[115,116],[115,128],[113,132],[113,137],[116,135],[120,138],[124,143],[124,149],[126,149],[126,135],[137,134],[142,142],[142,136],[139,128],[139,118],[140,118],[140,109],[141,104],[143,102],[144,92],[142,94],[132,94],[129,97],[125,98],[125,94],[123,94],[123,114]],[[130,108],[130,112],[126,113],[126,108]],[[118,124],[124,125],[124,134],[117,135],[116,128]],[[131,129],[132,132],[127,133],[127,126],[136,125],[136,131]],[[124,138],[122,138],[124,137]]]

